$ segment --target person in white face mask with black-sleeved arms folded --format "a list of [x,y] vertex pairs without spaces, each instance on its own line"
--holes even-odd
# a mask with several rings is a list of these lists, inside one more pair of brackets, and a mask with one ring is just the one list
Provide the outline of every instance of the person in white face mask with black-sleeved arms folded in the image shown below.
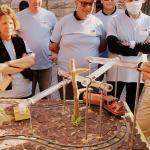
[[[141,12],[145,0],[124,0],[124,13],[112,18],[108,25],[107,42],[110,50],[109,57],[119,56],[123,61],[143,61],[144,54],[150,53],[150,17]],[[136,82],[138,72],[132,69],[113,67],[108,71],[107,81],[115,85],[117,80],[117,97],[120,98],[126,86],[126,102],[134,111]],[[140,84],[140,93],[143,84]],[[113,90],[112,94],[114,94]]]

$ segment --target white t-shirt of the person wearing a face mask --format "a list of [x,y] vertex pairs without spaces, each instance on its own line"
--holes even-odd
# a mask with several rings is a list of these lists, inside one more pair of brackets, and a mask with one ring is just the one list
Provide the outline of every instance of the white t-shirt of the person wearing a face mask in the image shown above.
[[[150,32],[150,17],[141,14],[138,19],[133,19],[125,13],[121,13],[116,17],[113,17],[109,22],[107,36],[113,35],[118,37],[121,41],[135,41],[142,42],[146,40]],[[120,49],[121,51],[121,49]],[[110,57],[116,57],[117,54],[110,53]],[[140,62],[145,58],[145,54],[139,53],[138,56],[120,56],[123,61]],[[112,68],[108,71],[107,80],[115,81],[116,68]],[[126,69],[118,67],[118,81],[124,82],[136,82],[138,78],[138,72],[133,69]]]

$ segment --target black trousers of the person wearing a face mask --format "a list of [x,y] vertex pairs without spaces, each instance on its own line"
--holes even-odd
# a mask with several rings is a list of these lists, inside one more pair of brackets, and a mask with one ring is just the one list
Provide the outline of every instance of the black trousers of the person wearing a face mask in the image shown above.
[[[115,95],[115,82],[108,82],[109,84],[113,85],[113,90],[109,92],[110,95]],[[135,96],[136,96],[136,87],[137,84],[135,82],[117,82],[117,93],[116,97],[120,99],[121,93],[123,91],[124,86],[126,86],[126,102],[132,112],[134,112],[134,106],[135,106]],[[139,96],[142,92],[142,89],[144,87],[143,83],[140,83],[140,89],[139,89]]]

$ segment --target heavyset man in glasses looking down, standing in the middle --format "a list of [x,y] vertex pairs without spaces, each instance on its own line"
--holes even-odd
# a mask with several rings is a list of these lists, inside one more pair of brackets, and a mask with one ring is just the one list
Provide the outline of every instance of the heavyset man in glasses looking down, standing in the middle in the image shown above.
[[[75,0],[75,5],[74,13],[56,24],[49,45],[53,56],[58,53],[59,68],[66,72],[69,72],[71,58],[75,59],[77,68],[88,67],[87,57],[98,57],[105,39],[102,22],[92,15],[95,0]],[[62,77],[58,76],[58,80],[61,81]],[[72,98],[72,87],[67,86],[67,99]]]

